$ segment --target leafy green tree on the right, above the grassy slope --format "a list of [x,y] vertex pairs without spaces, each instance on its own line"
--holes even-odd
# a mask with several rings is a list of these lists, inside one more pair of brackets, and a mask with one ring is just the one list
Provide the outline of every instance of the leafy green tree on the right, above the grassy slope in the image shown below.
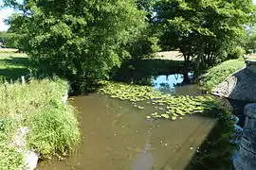
[[255,15],[250,0],[159,0],[155,25],[163,49],[179,49],[196,69],[227,58],[227,51],[245,37],[245,25]]

